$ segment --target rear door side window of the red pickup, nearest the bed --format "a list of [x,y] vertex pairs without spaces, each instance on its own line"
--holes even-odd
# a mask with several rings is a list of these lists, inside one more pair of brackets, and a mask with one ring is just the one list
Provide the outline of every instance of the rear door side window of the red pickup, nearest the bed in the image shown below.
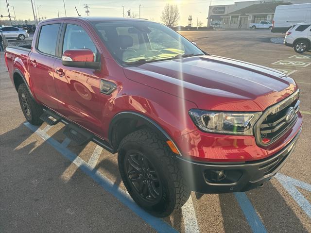
[[41,27],[37,47],[40,52],[55,55],[59,27],[60,24],[49,24]]

